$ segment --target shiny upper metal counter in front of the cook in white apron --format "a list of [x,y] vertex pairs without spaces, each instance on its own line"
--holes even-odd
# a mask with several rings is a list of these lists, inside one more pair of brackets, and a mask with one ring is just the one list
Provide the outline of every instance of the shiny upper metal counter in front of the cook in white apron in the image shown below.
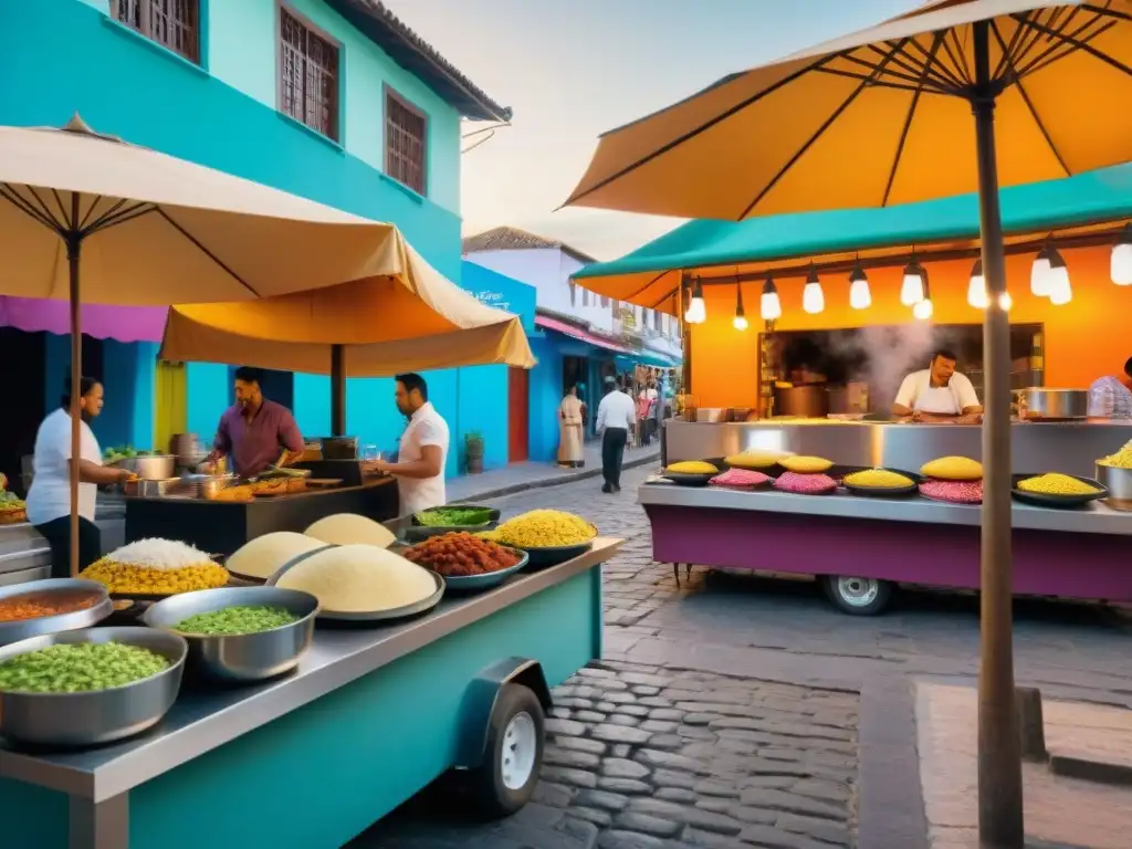
[[[1015,474],[1062,472],[1091,478],[1097,458],[1130,439],[1132,421],[1015,422],[1011,426],[1011,465]],[[890,422],[664,422],[661,456],[666,464],[726,457],[749,448],[811,454],[839,465],[917,471],[936,457],[981,460],[983,428]]]

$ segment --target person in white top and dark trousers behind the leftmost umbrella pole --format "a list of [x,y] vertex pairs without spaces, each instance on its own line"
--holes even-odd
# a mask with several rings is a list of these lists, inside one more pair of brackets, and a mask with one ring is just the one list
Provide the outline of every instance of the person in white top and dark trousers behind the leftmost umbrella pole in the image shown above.
[[[94,500],[98,484],[129,480],[122,469],[102,465],[102,449],[87,421],[102,412],[102,384],[89,377],[79,380],[78,461],[78,567],[84,569],[102,557],[102,534],[94,523]],[[70,460],[71,460],[71,381],[62,403],[40,424],[35,435],[34,477],[27,492],[27,521],[51,544],[51,576],[70,577]]]

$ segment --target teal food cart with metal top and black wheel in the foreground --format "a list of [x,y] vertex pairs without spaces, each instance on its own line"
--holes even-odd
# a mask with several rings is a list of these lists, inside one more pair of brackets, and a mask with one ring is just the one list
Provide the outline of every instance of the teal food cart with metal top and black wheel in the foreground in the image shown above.
[[319,627],[286,677],[187,680],[158,726],[122,743],[5,745],[3,844],[332,849],[449,771],[480,813],[512,812],[538,780],[550,688],[601,657],[600,565],[619,544],[598,538],[398,624]]

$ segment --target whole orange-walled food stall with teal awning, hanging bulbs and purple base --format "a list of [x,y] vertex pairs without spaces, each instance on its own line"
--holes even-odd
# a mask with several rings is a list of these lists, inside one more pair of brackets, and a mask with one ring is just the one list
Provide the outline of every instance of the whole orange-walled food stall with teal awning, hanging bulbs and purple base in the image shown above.
[[[1027,328],[1019,334],[1024,350],[1012,352],[1014,388],[1088,386],[1118,370],[1132,352],[1121,318],[1132,306],[1132,289],[1114,285],[1109,268],[1113,245],[1132,215],[1130,186],[1132,168],[1123,165],[1002,191],[1010,321]],[[696,221],[577,277],[602,294],[686,319],[684,415],[664,422],[663,463],[718,462],[757,451],[916,473],[944,456],[987,460],[979,424],[885,420],[907,371],[907,352],[923,358],[911,368],[923,368],[937,334],[981,320],[983,307],[972,302],[977,237],[970,196],[738,223]],[[1060,251],[1066,284],[1072,277],[1069,298],[1032,291],[1035,256],[1048,246]],[[910,265],[923,271],[932,307],[926,314],[902,302]],[[821,303],[807,293],[815,285],[824,286]],[[773,301],[769,309],[760,291]],[[752,321],[763,312],[770,317],[762,332],[747,329],[744,303]],[[867,405],[834,409],[830,417],[824,410],[814,414],[821,418],[779,415],[775,395],[790,386],[790,375],[782,374],[771,343],[791,333],[830,345],[859,334],[864,343],[852,353],[865,358],[861,383],[871,389],[886,384],[889,391],[871,392]],[[978,363],[970,365],[976,371]],[[834,395],[834,387],[807,389]],[[1097,460],[1132,438],[1130,423],[1083,414],[1058,421],[1015,417],[1012,473],[1095,478]],[[661,482],[644,484],[640,499],[654,558],[677,573],[679,564],[701,564],[815,575],[833,602],[852,614],[880,612],[900,583],[979,586],[978,506],[918,495],[863,498],[843,489],[806,496]],[[1132,515],[1100,503],[1073,509],[1014,504],[1012,520],[1015,593],[1129,600],[1132,583],[1120,564],[1132,554]]]

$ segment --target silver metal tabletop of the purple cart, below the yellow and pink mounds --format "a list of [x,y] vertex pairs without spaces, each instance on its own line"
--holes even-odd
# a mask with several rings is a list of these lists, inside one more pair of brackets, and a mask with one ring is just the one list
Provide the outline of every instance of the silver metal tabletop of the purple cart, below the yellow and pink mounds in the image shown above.
[[[978,526],[983,511],[978,505],[944,504],[920,496],[908,498],[863,498],[840,490],[835,495],[808,496],[792,492],[744,492],[721,487],[677,487],[645,483],[638,490],[641,504],[668,507],[794,513],[807,516],[868,518],[884,522],[929,522],[933,524]],[[1094,503],[1074,509],[1012,505],[1011,525],[1034,531],[1132,535],[1132,513],[1114,511]]]

